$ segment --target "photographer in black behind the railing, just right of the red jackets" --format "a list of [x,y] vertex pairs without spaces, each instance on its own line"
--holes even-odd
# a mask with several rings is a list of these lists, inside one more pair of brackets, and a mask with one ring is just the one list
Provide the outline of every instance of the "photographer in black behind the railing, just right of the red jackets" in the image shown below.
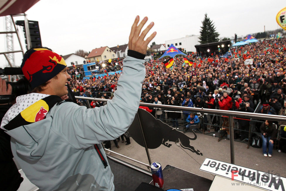
[[[250,107],[249,102],[245,102],[245,103],[240,103],[239,108],[236,109],[236,111],[253,113],[254,109]],[[240,117],[240,119],[238,119],[238,125],[239,125],[240,130],[244,130],[244,131],[241,131],[240,133],[241,135],[240,140],[244,140],[248,138],[249,118]]]

